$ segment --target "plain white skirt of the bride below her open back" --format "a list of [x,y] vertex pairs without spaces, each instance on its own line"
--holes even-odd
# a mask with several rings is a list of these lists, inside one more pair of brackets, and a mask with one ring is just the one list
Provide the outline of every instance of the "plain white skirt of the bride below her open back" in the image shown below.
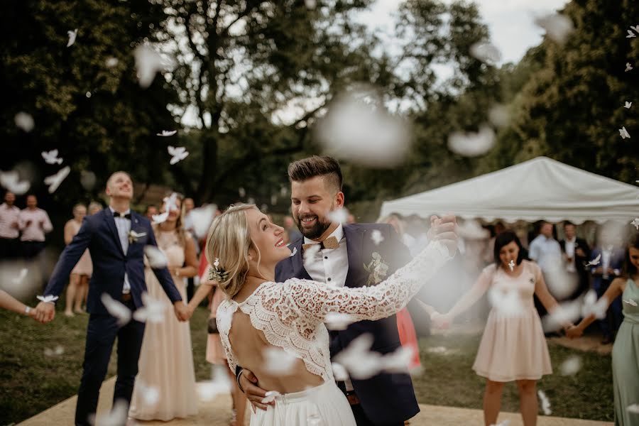
[[351,405],[334,381],[275,398],[275,406],[251,413],[251,426],[356,426]]

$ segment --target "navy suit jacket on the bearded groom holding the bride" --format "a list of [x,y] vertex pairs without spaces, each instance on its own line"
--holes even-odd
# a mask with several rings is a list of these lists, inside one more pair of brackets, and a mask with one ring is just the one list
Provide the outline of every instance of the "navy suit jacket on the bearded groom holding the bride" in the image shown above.
[[[374,229],[381,231],[384,238],[379,246],[371,239]],[[410,260],[408,249],[400,242],[391,225],[347,224],[344,225],[344,236],[349,256],[346,287],[366,285],[369,273],[364,265],[371,262],[373,252],[380,253],[382,261],[388,264],[387,276]],[[289,247],[291,250],[297,249],[295,256],[281,261],[275,267],[275,281],[278,283],[283,283],[288,278],[312,279],[304,268],[302,242],[303,238],[293,241]],[[343,331],[331,332],[331,357],[364,333],[373,336],[371,350],[380,354],[391,353],[401,346],[397,320],[393,315],[378,321],[355,322]],[[376,425],[401,424],[420,411],[408,373],[381,373],[366,380],[351,381],[366,417]]]

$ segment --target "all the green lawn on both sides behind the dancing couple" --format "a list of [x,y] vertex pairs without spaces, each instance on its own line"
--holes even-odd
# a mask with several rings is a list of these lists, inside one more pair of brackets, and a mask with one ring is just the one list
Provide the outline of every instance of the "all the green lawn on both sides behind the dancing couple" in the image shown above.
[[[195,377],[211,376],[211,366],[204,359],[209,311],[200,307],[191,319],[191,337]],[[61,311],[50,324],[42,325],[21,315],[0,310],[0,425],[21,422],[77,393],[82,375],[87,315],[67,318]],[[481,409],[484,379],[472,371],[479,336],[433,336],[420,342],[424,371],[413,378],[420,403],[452,405]],[[44,349],[60,345],[64,354],[45,356]],[[441,355],[427,348],[445,346],[456,350]],[[549,344],[555,370],[572,354],[582,357],[584,366],[574,377],[558,373],[545,376],[539,388],[552,404],[552,415],[591,420],[613,420],[611,358],[583,353]],[[108,376],[115,373],[112,355]],[[503,411],[518,411],[514,383],[505,388]]]

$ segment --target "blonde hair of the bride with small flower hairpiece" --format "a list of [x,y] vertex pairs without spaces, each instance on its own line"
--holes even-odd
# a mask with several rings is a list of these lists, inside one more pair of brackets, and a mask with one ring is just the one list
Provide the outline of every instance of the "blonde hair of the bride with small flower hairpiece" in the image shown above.
[[244,285],[249,272],[249,250],[258,251],[251,240],[249,219],[246,217],[246,210],[249,209],[257,207],[255,204],[229,207],[213,220],[207,236],[207,261],[209,265],[214,265],[215,259],[218,259],[218,271],[226,273],[217,286],[228,299],[234,297]]

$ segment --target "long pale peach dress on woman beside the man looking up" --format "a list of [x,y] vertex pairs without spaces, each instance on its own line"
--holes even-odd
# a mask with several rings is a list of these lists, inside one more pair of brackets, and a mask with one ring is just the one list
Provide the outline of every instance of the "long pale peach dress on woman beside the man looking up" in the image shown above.
[[[158,247],[163,251],[171,270],[185,261],[184,246],[177,232],[154,229]],[[197,414],[195,368],[191,349],[189,322],[179,322],[173,305],[151,268],[145,268],[146,288],[155,300],[165,303],[163,322],[146,322],[139,371],[131,398],[129,416],[138,420],[172,420]],[[172,275],[175,287],[186,300],[183,277]],[[149,400],[148,389],[158,391],[157,400]]]

